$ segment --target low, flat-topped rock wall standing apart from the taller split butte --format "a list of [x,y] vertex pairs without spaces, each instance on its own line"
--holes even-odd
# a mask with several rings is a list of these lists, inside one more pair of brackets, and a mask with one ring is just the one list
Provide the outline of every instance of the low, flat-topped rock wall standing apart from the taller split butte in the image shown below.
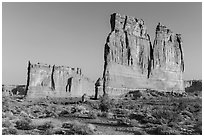
[[81,69],[28,63],[27,97],[76,97],[94,95],[94,83]]

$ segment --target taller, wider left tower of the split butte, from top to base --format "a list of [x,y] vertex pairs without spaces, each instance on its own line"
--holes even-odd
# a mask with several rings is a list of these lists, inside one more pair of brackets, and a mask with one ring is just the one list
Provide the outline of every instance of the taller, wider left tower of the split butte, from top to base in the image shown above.
[[[144,79],[149,76],[152,47],[150,37],[142,19],[111,15],[111,33],[105,44],[104,92],[127,88],[144,87]],[[141,83],[141,84],[139,84]]]

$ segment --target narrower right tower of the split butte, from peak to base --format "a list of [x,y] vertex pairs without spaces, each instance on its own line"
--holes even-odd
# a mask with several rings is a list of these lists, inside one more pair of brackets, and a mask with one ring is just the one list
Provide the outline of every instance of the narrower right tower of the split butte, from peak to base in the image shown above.
[[157,88],[172,91],[184,90],[181,35],[173,33],[159,23],[156,27],[153,51],[151,78],[161,82],[155,83]]

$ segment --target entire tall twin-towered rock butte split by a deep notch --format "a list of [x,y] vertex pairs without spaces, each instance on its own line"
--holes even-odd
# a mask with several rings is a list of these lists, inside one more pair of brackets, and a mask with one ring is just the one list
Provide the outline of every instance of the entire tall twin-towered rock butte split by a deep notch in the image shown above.
[[117,96],[136,89],[184,90],[180,35],[159,24],[152,47],[142,19],[114,13],[110,23],[104,49],[104,93]]

